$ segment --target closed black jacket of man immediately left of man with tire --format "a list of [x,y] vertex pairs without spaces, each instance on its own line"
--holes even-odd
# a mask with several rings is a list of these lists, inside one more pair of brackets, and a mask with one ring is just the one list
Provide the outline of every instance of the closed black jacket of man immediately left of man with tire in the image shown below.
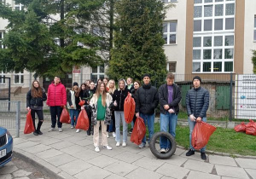
[[157,89],[154,86],[151,86],[151,84],[143,84],[143,86],[136,92],[135,102],[136,113],[139,112],[148,115],[154,114],[154,109],[157,107],[159,102]]

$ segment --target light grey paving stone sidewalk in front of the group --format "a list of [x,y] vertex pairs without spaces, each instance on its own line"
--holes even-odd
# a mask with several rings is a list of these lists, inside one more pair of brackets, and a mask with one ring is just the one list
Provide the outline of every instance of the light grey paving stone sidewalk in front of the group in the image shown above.
[[149,147],[142,149],[131,143],[127,147],[116,147],[113,136],[108,144],[113,150],[100,148],[96,153],[92,136],[85,131],[76,133],[70,124],[63,124],[63,132],[47,132],[50,121],[42,126],[44,135],[24,135],[25,119],[21,119],[20,138],[15,138],[14,151],[32,159],[56,176],[67,179],[256,179],[256,159],[230,158],[200,153],[186,157],[183,149],[177,148],[171,159],[156,159]]

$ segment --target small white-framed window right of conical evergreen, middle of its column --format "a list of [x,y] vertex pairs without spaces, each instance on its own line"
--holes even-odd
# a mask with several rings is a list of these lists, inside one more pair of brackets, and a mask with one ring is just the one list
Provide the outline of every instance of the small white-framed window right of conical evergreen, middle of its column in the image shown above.
[[163,38],[165,44],[176,44],[177,37],[177,21],[163,23]]

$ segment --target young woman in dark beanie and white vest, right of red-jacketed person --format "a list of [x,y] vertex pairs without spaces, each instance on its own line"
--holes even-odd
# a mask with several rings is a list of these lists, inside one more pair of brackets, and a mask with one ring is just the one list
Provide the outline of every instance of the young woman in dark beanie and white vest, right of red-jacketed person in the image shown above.
[[[77,124],[79,118],[79,84],[77,82],[73,83],[73,88],[68,92],[67,96],[67,108],[69,109],[69,114],[71,118],[71,129],[74,128],[74,125]],[[76,121],[74,122],[74,117],[76,117]],[[79,132],[80,130],[76,130]]]

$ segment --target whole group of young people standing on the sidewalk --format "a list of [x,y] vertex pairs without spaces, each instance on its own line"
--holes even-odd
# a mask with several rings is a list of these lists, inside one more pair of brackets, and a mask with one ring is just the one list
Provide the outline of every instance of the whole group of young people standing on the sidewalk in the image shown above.
[[[66,93],[66,88],[61,84],[61,79],[54,78],[54,82],[49,84],[48,96],[40,87],[37,80],[33,81],[31,90],[26,95],[27,110],[31,110],[32,120],[35,126],[33,134],[35,136],[42,135],[40,130],[44,122],[43,101],[49,106],[51,115],[51,128],[49,131],[55,130],[57,124],[59,132],[62,132],[62,124],[60,122],[61,111],[67,106],[71,117],[71,128],[76,125],[79,118],[79,112],[86,110],[88,114],[90,127],[87,135],[93,134],[93,143],[96,152],[100,152],[100,134],[102,130],[103,148],[111,150],[108,145],[108,132],[113,132],[116,141],[116,147],[127,146],[128,124],[125,122],[124,103],[127,95],[131,95],[136,102],[136,109],[131,124],[136,122],[137,117],[143,118],[144,124],[148,127],[149,138],[154,135],[154,118],[155,108],[160,104],[160,131],[169,132],[173,137],[176,136],[177,115],[179,113],[179,102],[182,99],[181,90],[177,84],[174,84],[174,74],[166,75],[166,84],[162,84],[157,90],[150,83],[150,74],[143,75],[143,85],[139,81],[132,83],[132,78],[119,79],[117,86],[113,79],[99,79],[97,84],[87,80],[84,84],[74,82],[73,88]],[[186,95],[186,108],[189,120],[189,152],[187,156],[193,155],[195,149],[191,145],[191,134],[196,122],[207,120],[207,109],[209,106],[209,92],[201,87],[201,78],[195,76],[193,78],[193,88]],[[82,106],[80,101],[84,101]],[[38,114],[38,126],[35,125],[35,113]],[[58,120],[57,120],[57,118]],[[123,125],[123,135],[120,135],[120,123]],[[92,128],[93,126],[93,128]],[[80,130],[76,130],[79,132]],[[146,136],[142,143],[138,146],[143,148],[146,146]],[[160,137],[160,153],[167,153],[171,148],[171,143],[166,137]],[[206,147],[201,148],[201,159],[207,159],[205,154]]]

